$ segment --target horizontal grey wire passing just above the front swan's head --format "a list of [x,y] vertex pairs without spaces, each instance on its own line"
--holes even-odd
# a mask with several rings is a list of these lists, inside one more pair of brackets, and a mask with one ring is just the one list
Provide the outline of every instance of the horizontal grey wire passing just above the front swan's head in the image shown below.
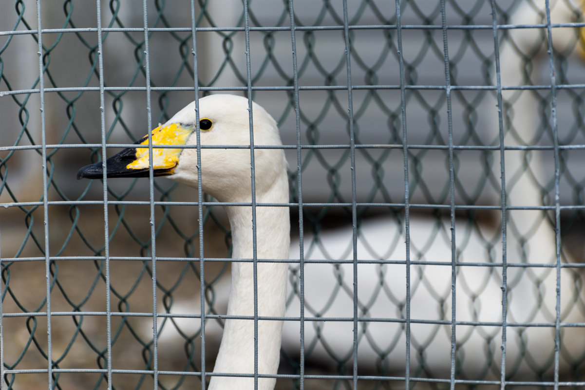
[[[494,85],[405,85],[406,89],[430,89],[436,91],[445,91],[446,89],[454,91],[495,91],[497,87]],[[360,89],[397,89],[400,90],[400,85],[384,84],[384,85],[352,85],[352,90]],[[503,91],[534,91],[546,90],[552,88],[550,85],[503,85]],[[583,89],[585,84],[559,84],[557,89]],[[294,87],[287,85],[282,86],[253,86],[253,91],[294,91]],[[346,91],[347,85],[300,85],[300,91]],[[44,92],[99,92],[99,87],[57,87],[44,88]],[[104,87],[104,91],[146,91],[146,87]],[[150,91],[193,91],[193,87],[151,87]],[[199,91],[247,91],[246,87],[199,87]],[[32,89],[15,89],[13,91],[0,91],[0,98],[8,95],[22,95],[22,94],[38,94],[39,88]]]

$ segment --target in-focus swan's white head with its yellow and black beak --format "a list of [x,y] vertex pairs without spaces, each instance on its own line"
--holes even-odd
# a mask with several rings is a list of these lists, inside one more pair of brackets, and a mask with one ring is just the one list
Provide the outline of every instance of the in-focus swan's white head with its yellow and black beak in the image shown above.
[[[252,113],[254,145],[281,145],[276,121],[270,114],[256,103],[252,105]],[[197,148],[194,147],[197,145],[196,124],[195,102],[191,102],[173,118],[152,130],[152,144],[167,146],[153,147],[154,176],[167,176],[191,187],[198,187]],[[199,128],[203,191],[219,201],[251,199],[248,100],[235,95],[211,95],[199,99]],[[107,177],[149,177],[148,143],[148,137],[145,136],[136,144],[146,147],[128,148],[109,157],[105,161]],[[223,145],[232,147],[215,147]],[[81,168],[77,178],[102,178],[102,165],[100,161]],[[256,149],[256,192],[267,191],[278,177],[285,175],[285,170],[282,149]]]

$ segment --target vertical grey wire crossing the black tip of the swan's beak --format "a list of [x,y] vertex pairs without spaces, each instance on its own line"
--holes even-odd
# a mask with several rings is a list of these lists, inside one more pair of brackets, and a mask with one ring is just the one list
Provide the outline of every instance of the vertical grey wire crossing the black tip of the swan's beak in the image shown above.
[[96,0],[96,12],[98,23],[98,70],[99,70],[99,118],[102,140],[102,196],[104,199],[104,256],[106,262],[106,348],[108,370],[108,390],[112,390],[112,316],[110,302],[110,270],[109,270],[109,217],[108,217],[108,177],[106,175],[106,126],[105,126],[105,100],[104,100],[104,46],[102,37],[102,12],[101,1]]

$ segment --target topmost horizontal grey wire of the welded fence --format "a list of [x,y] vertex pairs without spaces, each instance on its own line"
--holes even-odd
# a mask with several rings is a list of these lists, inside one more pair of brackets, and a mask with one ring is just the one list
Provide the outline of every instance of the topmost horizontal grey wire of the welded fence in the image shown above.
[[[580,28],[585,27],[583,22],[573,23],[553,23],[550,25],[553,29],[557,28]],[[395,30],[396,25],[348,25],[350,30]],[[442,25],[401,25],[401,29],[407,30],[442,30]],[[543,23],[524,24],[524,25],[496,25],[498,30],[515,30],[515,29],[546,29],[548,25]],[[447,25],[449,30],[491,30],[492,25]],[[290,32],[294,31],[330,31],[343,30],[344,26],[255,26],[249,27],[250,32]],[[99,29],[102,33],[109,32],[192,32],[192,27],[104,27]],[[197,27],[195,32],[245,32],[245,27]],[[62,34],[62,33],[95,33],[98,32],[97,27],[77,27],[68,29],[41,29],[42,34]],[[23,34],[38,34],[39,30],[12,30],[0,31],[0,36],[5,35],[23,35]]]

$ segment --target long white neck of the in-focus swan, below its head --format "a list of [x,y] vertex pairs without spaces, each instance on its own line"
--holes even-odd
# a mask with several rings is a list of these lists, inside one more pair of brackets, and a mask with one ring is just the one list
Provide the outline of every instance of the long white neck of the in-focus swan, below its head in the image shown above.
[[[281,175],[267,191],[259,192],[256,202],[288,202],[287,176]],[[228,206],[226,212],[232,229],[234,259],[252,259],[254,255],[258,260],[288,258],[290,220],[287,206],[256,206],[255,225],[252,223],[250,206]],[[253,228],[256,230],[255,246]],[[284,316],[287,271],[286,263],[261,262],[256,264],[254,275],[252,262],[233,262],[228,315]],[[257,351],[257,372],[276,374],[280,360],[282,325],[280,320],[258,320],[255,346],[254,319],[226,320],[214,372],[254,374],[254,351]],[[270,390],[275,383],[276,379],[273,378],[259,378],[258,388]],[[254,378],[214,376],[209,385],[211,390],[253,388]]]

